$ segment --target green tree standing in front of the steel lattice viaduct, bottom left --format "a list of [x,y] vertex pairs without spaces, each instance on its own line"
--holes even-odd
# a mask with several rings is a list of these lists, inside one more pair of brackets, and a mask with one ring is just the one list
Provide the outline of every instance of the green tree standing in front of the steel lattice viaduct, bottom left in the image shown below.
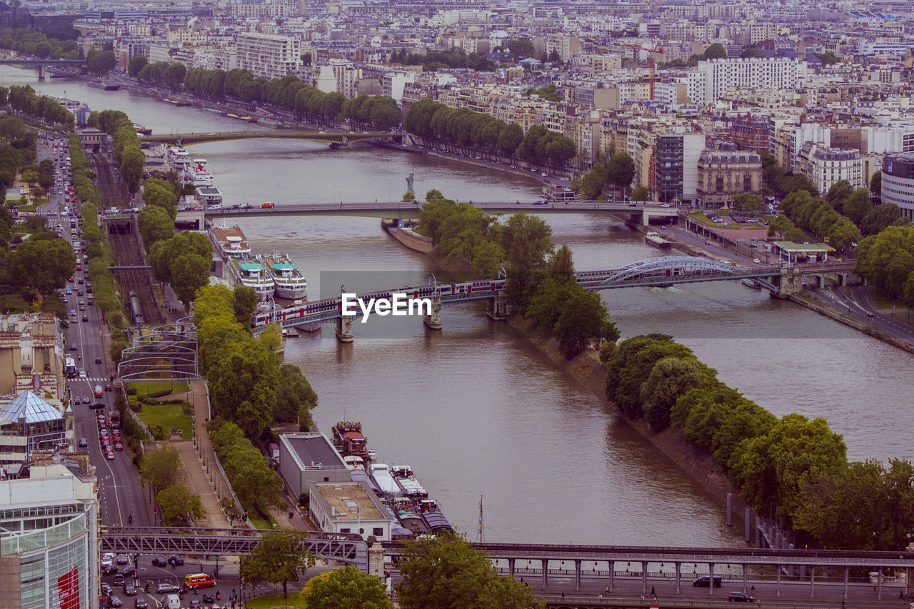
[[263,533],[250,555],[241,558],[242,581],[253,587],[260,583],[282,583],[282,595],[288,601],[289,580],[314,567],[314,554],[303,550],[306,537],[305,531],[297,529]]

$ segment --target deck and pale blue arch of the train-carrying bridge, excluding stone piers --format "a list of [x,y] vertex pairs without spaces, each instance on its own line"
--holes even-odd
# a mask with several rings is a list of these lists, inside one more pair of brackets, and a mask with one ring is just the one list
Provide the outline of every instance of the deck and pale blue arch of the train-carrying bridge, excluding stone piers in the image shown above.
[[[829,272],[851,272],[853,262],[819,262],[794,265],[794,272],[802,274],[823,274]],[[776,264],[758,264],[739,267],[729,262],[720,262],[698,256],[660,256],[632,262],[619,269],[606,271],[583,271],[575,273],[575,282],[588,290],[612,290],[626,287],[666,287],[675,283],[698,283],[752,279],[772,293],[780,291],[779,278],[789,271]],[[393,294],[407,294],[412,298],[440,299],[441,305],[453,305],[470,300],[490,299],[505,290],[507,277],[504,272],[496,279],[480,279],[463,283],[438,283],[434,275],[429,282],[389,288],[376,292],[357,294],[366,302],[371,298],[393,298]],[[251,327],[257,331],[273,322],[284,328],[310,326],[334,322],[342,317],[341,297],[324,298],[302,305],[292,305],[269,313],[253,315]],[[362,314],[356,313],[356,318]]]

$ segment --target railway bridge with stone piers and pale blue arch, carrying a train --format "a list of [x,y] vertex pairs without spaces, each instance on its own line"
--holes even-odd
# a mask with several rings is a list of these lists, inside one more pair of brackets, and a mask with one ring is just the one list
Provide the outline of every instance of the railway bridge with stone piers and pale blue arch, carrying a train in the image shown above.
[[[787,298],[802,290],[804,278],[834,276],[840,283],[846,283],[853,269],[853,262],[841,261],[739,267],[729,262],[699,256],[660,256],[632,262],[619,269],[576,272],[575,282],[585,289],[600,291],[750,279],[768,289],[772,296]],[[499,272],[495,279],[462,283],[439,283],[434,275],[430,275],[428,282],[424,284],[358,293],[356,298],[368,303],[371,299],[391,301],[394,294],[406,294],[410,299],[428,301],[422,314],[423,321],[431,329],[441,329],[443,306],[472,300],[488,300],[488,315],[496,320],[505,319],[508,315],[506,283],[507,276],[504,270]],[[341,342],[352,342],[352,324],[362,317],[363,313],[360,307],[356,307],[354,315],[343,315],[345,286],[341,286],[340,292],[340,296],[285,308],[277,307],[270,312],[258,313],[251,319],[251,327],[258,332],[276,322],[283,328],[315,331],[321,324],[335,322],[336,337]]]

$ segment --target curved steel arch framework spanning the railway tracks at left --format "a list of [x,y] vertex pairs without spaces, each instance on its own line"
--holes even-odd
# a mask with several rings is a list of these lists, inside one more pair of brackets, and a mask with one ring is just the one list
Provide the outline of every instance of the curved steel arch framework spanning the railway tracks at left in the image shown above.
[[200,379],[197,327],[190,317],[155,326],[134,337],[117,365],[118,378],[129,382]]

